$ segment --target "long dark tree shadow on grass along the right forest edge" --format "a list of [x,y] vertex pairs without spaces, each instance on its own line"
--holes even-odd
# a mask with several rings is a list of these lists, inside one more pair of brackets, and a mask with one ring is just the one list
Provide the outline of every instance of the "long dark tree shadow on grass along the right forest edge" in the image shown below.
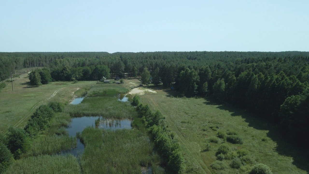
[[[279,128],[275,124],[269,123],[265,118],[259,117],[257,114],[250,113],[243,109],[232,106],[228,103],[221,103],[215,100],[206,99],[204,102],[207,105],[218,105],[217,108],[225,111],[232,112],[231,116],[241,116],[248,123],[248,126],[258,130],[268,130],[267,137],[271,138],[277,143],[276,151],[280,155],[288,156],[293,158],[292,164],[296,167],[305,170],[309,173],[309,156],[306,148],[301,148],[288,139],[280,132]],[[308,137],[305,137],[308,138]],[[261,137],[262,141],[262,137]]]

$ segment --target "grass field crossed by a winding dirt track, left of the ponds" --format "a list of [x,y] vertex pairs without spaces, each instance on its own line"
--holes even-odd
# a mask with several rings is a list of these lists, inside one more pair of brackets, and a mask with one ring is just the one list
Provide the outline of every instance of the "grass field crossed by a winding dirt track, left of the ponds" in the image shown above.
[[5,133],[10,126],[23,128],[40,104],[49,101],[68,102],[78,88],[96,84],[96,81],[80,81],[76,84],[51,82],[40,87],[32,87],[28,82],[28,74],[20,74],[19,77],[13,78],[14,91],[11,83],[7,83],[0,92],[0,133]]

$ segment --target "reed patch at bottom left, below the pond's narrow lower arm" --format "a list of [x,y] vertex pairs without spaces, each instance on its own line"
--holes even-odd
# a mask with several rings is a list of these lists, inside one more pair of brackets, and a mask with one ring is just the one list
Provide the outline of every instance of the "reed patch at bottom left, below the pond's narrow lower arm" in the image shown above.
[[5,174],[32,173],[81,173],[78,160],[73,155],[41,155],[16,160]]

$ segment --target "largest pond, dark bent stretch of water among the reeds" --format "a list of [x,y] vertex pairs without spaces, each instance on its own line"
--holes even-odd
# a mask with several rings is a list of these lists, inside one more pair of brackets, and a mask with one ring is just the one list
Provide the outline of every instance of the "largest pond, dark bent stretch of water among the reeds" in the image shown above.
[[[82,116],[72,118],[69,128],[66,128],[70,136],[76,136],[77,132],[82,132],[88,126],[97,127],[100,129],[116,130],[116,129],[131,129],[132,120],[129,119],[105,119],[102,116]],[[97,124],[97,125],[96,125]],[[78,156],[83,153],[85,146],[77,139],[77,146],[71,150],[61,152],[61,154],[73,154]]]

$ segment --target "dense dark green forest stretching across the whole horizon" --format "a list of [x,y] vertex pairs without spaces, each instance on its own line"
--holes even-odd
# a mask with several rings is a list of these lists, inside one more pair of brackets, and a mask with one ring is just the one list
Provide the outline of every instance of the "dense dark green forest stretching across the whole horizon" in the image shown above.
[[28,67],[45,67],[29,75],[43,84],[136,77],[146,67],[154,84],[247,109],[309,146],[309,52],[0,53],[1,81]]

